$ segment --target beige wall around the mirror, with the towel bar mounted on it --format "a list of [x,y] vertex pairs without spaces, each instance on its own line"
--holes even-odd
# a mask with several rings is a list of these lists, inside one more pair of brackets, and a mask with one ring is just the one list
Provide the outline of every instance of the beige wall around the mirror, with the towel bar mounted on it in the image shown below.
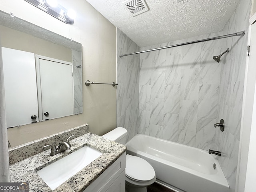
[[[0,10],[80,42],[83,46],[83,82],[116,81],[116,28],[85,0],[58,2],[76,10],[74,25],[65,24],[25,1],[1,0]],[[98,135],[115,128],[116,88],[83,84],[83,99],[82,114],[9,128],[10,143],[17,146],[85,123],[89,124],[90,132]]]

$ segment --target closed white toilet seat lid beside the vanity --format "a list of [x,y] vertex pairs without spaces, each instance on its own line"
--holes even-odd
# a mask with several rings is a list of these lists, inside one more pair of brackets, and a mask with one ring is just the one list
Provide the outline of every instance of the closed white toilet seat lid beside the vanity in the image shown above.
[[149,181],[154,178],[156,173],[146,160],[127,154],[125,174],[137,181]]

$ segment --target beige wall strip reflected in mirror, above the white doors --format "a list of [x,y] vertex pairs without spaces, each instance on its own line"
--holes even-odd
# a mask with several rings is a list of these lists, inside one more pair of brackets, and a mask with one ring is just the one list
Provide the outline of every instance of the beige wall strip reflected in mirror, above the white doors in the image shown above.
[[2,47],[72,62],[72,51],[64,46],[0,25]]

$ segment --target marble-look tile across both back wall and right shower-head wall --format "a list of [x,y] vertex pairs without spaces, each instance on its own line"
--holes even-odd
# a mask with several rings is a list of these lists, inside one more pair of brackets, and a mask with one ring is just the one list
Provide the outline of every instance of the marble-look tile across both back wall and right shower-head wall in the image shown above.
[[[246,30],[232,37],[140,54],[139,133],[222,152],[221,168],[235,191],[249,0],[241,0],[222,32],[143,47],[172,44]],[[221,62],[212,56],[227,48]],[[213,124],[225,120],[225,130]]]

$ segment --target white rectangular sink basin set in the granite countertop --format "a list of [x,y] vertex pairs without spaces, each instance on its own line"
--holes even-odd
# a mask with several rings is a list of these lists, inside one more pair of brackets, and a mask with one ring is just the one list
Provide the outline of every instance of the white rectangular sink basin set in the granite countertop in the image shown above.
[[37,173],[54,190],[100,155],[102,155],[101,152],[89,146],[84,146],[53,164],[42,168]]

